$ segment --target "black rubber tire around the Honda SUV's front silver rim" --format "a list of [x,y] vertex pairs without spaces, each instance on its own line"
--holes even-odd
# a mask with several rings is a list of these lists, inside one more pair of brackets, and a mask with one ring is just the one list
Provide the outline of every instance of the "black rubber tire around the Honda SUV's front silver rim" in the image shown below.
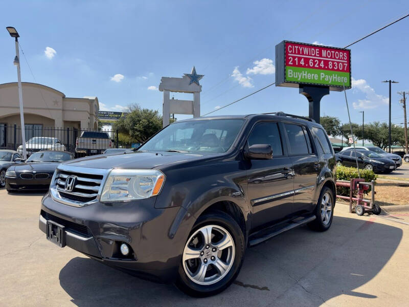
[[229,214],[222,211],[212,211],[200,216],[188,238],[190,238],[196,230],[206,225],[218,225],[229,231],[234,241],[235,255],[229,272],[221,280],[210,285],[201,285],[192,281],[187,276],[182,264],[183,260],[181,259],[175,285],[179,290],[193,297],[212,296],[228,288],[239,274],[244,259],[244,235],[237,222]]

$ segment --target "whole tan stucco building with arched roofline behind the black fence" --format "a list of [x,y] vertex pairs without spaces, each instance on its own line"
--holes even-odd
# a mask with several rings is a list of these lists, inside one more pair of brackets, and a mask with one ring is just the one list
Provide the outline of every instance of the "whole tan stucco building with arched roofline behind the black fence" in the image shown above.
[[[81,130],[98,130],[97,97],[66,97],[46,85],[21,84],[26,140],[53,136],[69,145]],[[0,148],[14,148],[21,142],[20,126],[17,82],[0,84]]]

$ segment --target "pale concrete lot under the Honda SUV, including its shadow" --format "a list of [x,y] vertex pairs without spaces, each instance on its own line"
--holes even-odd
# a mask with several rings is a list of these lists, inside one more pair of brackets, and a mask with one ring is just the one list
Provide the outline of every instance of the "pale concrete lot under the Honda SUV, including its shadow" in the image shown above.
[[[225,292],[196,299],[69,248],[38,229],[41,194],[0,190],[1,306],[407,306],[409,214],[357,216],[338,204],[331,229],[295,229],[248,249]],[[405,222],[406,221],[406,222]]]

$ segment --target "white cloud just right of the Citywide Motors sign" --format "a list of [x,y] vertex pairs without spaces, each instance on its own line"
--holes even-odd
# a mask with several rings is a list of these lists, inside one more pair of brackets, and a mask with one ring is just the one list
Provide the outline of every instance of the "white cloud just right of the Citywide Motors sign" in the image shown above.
[[362,92],[365,94],[365,99],[358,99],[353,103],[355,109],[371,109],[381,105],[387,105],[389,98],[375,93],[375,90],[368,84],[365,79],[352,78],[352,90],[354,92]]

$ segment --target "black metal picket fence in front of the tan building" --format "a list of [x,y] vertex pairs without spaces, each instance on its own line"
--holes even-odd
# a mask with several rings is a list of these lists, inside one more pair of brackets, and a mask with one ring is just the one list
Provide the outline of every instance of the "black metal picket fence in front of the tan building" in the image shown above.
[[[98,155],[107,148],[118,148],[118,130],[91,130],[25,125],[28,156],[40,150],[66,150],[76,158]],[[81,137],[83,136],[83,137]],[[21,127],[0,124],[0,149],[22,152]]]

